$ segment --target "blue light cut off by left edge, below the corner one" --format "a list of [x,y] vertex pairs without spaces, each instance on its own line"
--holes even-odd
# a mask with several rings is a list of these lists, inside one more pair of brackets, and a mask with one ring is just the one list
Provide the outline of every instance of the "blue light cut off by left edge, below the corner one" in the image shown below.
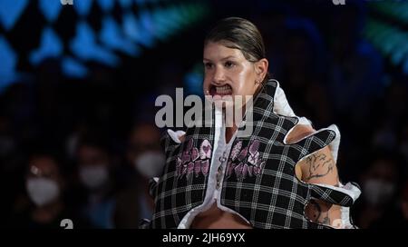
[[3,36],[0,36],[0,93],[10,84],[15,83],[19,74],[15,71],[17,55]]

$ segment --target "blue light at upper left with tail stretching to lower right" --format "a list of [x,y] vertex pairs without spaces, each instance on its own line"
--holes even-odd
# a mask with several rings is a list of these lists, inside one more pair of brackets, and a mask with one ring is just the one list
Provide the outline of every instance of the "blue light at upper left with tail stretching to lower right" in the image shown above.
[[119,58],[95,43],[95,35],[92,28],[84,22],[78,23],[76,36],[71,41],[71,50],[73,54],[87,61],[97,61],[102,64],[115,66],[120,63]]

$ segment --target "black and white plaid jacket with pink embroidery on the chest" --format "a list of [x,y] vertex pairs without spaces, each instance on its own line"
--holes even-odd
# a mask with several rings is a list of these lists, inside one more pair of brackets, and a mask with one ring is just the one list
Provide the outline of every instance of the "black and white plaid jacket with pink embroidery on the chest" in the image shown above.
[[[320,130],[297,143],[284,143],[298,118],[273,112],[276,89],[277,82],[270,80],[257,94],[253,133],[234,140],[220,203],[245,217],[254,228],[328,228],[306,219],[306,204],[319,199],[350,207],[353,198],[335,189],[300,182],[295,165],[331,143],[335,132]],[[176,228],[187,212],[204,201],[214,123],[189,128],[185,136],[182,143],[174,143],[167,133],[162,138],[167,161],[158,183],[151,187],[155,202],[151,228]]]

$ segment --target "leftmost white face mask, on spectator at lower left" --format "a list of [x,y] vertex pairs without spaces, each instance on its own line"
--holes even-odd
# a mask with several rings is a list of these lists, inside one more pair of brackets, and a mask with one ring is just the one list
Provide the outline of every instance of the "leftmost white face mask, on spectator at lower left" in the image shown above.
[[52,203],[60,194],[58,184],[52,179],[29,178],[25,186],[28,196],[37,206]]

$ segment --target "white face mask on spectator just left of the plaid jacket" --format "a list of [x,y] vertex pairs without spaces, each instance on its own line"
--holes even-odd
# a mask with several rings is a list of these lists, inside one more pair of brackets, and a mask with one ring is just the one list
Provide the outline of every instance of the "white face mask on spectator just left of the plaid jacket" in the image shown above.
[[149,151],[139,155],[135,161],[135,167],[141,175],[151,178],[160,175],[165,163],[166,158],[163,153]]

